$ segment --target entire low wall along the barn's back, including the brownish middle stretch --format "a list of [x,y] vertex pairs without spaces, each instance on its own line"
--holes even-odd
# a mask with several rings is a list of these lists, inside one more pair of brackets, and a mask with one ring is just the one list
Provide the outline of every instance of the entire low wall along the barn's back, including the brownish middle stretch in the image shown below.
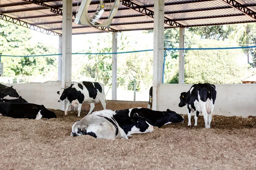
[[[13,85],[18,94],[30,103],[44,105],[46,108],[60,109],[57,91],[61,89],[61,82],[27,83],[27,84],[4,84]],[[256,84],[215,84],[217,98],[215,101],[214,114],[224,116],[256,116]],[[169,108],[180,114],[187,114],[187,108],[178,107],[180,93],[189,91],[192,85],[160,84],[158,107],[159,111]],[[153,97],[154,99],[154,97]],[[115,101],[108,100],[107,109],[121,110],[126,108],[144,107],[148,102]],[[100,103],[95,105],[94,111],[102,110]],[[89,111],[90,105],[84,103],[83,111]]]

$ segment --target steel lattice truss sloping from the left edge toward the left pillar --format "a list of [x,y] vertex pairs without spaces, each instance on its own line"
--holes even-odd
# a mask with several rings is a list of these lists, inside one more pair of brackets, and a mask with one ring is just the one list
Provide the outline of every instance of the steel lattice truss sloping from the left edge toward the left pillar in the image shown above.
[[41,33],[44,33],[44,34],[48,34],[48,35],[61,35],[60,33],[57,33],[55,31],[51,31],[49,29],[45,29],[45,28],[42,28],[42,27],[38,27],[38,26],[35,26],[33,24],[30,24],[30,23],[26,23],[24,21],[21,21],[21,20],[17,20],[15,18],[12,18],[12,17],[9,17],[9,16],[6,16],[4,14],[0,14],[0,18],[2,20],[5,20],[5,21],[8,21],[10,23],[14,23],[14,24],[17,24],[19,26],[23,26],[23,27],[26,27],[26,28],[29,28],[29,29],[32,29],[32,30],[35,30],[35,31],[38,31],[38,32],[41,32]]

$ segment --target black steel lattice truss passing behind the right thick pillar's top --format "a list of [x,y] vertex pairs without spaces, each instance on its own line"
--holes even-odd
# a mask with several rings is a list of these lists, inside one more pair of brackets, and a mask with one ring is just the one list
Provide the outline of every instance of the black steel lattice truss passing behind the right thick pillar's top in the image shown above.
[[[150,9],[148,9],[148,7],[151,7],[151,5],[148,6],[140,6],[136,3],[134,3],[131,0],[122,0],[122,5],[127,6],[128,8],[131,8],[135,11],[138,11],[148,17],[154,18],[154,11],[151,11]],[[154,4],[153,4],[154,6]],[[172,27],[178,27],[178,28],[183,28],[184,26],[181,25],[180,23],[176,23],[174,21],[169,21],[169,18],[164,17],[165,19],[165,24],[172,26]]]

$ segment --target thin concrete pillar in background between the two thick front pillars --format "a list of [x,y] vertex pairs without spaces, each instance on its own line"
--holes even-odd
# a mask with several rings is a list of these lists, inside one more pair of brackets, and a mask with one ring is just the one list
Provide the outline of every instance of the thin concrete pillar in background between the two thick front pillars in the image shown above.
[[[112,36],[112,52],[117,52],[117,32]],[[116,100],[117,91],[117,54],[112,54],[112,100]]]

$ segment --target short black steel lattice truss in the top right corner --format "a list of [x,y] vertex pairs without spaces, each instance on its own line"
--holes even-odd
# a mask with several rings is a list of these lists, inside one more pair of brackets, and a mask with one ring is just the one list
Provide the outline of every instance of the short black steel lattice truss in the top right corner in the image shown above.
[[243,12],[247,16],[250,16],[254,20],[256,20],[256,12],[254,12],[253,10],[247,8],[246,4],[243,5],[243,4],[239,3],[239,2],[237,2],[236,0],[222,0],[222,1],[224,1],[225,3],[227,3],[230,6],[232,6],[233,8],[238,9],[239,11]]

